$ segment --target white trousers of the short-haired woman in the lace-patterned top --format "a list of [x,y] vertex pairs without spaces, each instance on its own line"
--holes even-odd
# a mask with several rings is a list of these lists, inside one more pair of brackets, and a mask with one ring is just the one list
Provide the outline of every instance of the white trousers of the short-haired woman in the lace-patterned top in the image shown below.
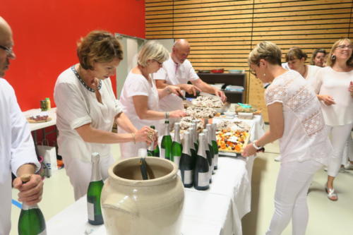
[[292,219],[292,234],[304,235],[309,219],[306,195],[313,175],[323,164],[313,160],[284,162],[277,176],[275,212],[266,235],[280,235]]

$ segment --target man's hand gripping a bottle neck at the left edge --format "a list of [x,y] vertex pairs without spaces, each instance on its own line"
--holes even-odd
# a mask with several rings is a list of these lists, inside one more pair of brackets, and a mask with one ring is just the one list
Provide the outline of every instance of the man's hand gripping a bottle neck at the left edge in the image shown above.
[[20,176],[13,180],[13,188],[17,188],[18,200],[27,205],[35,205],[42,200],[43,181],[40,175],[31,174],[30,181],[22,183]]

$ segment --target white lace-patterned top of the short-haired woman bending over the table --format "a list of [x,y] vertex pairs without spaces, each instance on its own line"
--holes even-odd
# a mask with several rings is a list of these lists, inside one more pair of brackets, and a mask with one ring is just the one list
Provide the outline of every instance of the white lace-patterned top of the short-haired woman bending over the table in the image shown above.
[[314,159],[327,164],[332,151],[320,103],[310,84],[297,71],[288,71],[265,90],[266,104],[282,103],[284,131],[282,162]]

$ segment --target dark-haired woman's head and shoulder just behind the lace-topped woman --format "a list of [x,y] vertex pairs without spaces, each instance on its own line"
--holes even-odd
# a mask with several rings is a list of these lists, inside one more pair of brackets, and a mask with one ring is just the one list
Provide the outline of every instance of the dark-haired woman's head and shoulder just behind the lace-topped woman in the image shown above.
[[321,67],[306,65],[306,58],[308,56],[299,47],[292,47],[286,55],[289,68],[300,73],[306,80],[311,81]]

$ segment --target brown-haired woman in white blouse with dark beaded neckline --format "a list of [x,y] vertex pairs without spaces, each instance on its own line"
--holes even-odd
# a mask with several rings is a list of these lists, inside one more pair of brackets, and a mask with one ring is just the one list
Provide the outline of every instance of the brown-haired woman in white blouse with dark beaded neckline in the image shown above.
[[[100,154],[102,177],[106,179],[114,162],[109,144],[150,143],[154,138],[154,131],[147,126],[138,131],[116,101],[109,78],[123,59],[116,37],[104,31],[90,32],[78,43],[77,54],[80,63],[62,72],[54,88],[59,155],[76,200],[87,193],[92,152]],[[113,123],[126,133],[112,133]]]

